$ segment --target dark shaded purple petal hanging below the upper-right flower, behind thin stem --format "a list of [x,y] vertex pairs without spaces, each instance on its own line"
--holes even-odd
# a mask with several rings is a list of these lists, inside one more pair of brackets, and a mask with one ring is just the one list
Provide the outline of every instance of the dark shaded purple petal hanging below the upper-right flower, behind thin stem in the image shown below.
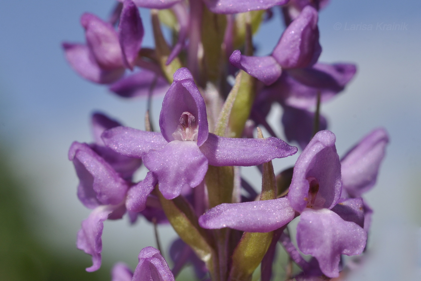
[[[314,131],[314,113],[285,105],[283,108],[282,124],[285,137],[287,137],[288,142],[298,142],[298,145],[304,150],[310,142]],[[327,126],[325,117],[320,115],[319,130],[325,130]]]

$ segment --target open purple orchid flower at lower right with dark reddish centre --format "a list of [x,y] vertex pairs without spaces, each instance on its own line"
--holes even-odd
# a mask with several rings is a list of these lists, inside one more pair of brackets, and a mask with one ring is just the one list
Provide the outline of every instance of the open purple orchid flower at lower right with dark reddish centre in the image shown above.
[[361,254],[367,241],[362,200],[340,201],[341,189],[335,135],[320,131],[298,157],[288,197],[221,204],[202,215],[199,223],[203,228],[267,232],[284,226],[299,213],[298,248],[315,257],[322,273],[333,278],[339,275],[341,255]]

